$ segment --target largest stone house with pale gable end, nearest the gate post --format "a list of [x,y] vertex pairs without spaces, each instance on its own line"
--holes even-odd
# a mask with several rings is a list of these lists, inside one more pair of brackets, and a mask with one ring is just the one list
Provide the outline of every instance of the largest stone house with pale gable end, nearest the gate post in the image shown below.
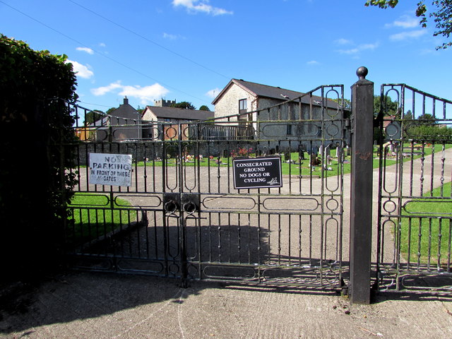
[[342,119],[350,112],[310,93],[232,79],[212,104],[215,124],[242,126],[276,152],[301,147],[316,153],[323,144],[335,144],[343,132],[349,134]]

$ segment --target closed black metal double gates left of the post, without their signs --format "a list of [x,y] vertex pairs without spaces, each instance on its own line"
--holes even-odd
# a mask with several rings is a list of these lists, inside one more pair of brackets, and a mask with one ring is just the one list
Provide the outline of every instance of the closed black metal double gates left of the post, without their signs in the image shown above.
[[[75,164],[62,164],[78,177],[67,206],[71,265],[184,283],[344,287],[342,102],[343,85],[328,85],[212,121],[76,126],[84,140],[71,145]],[[120,138],[126,129],[147,137]],[[131,155],[131,186],[90,184],[92,153]],[[279,158],[282,186],[234,189],[240,157]]]

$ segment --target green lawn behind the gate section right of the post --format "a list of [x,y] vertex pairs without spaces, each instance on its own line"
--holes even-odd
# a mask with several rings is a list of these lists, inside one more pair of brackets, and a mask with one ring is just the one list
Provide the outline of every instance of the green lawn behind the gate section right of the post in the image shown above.
[[402,211],[400,250],[411,263],[416,263],[418,257],[421,263],[427,263],[429,257],[431,264],[448,261],[452,238],[451,182],[444,184],[442,195],[441,188],[437,188],[424,196],[430,197],[431,193],[448,199],[419,199]]

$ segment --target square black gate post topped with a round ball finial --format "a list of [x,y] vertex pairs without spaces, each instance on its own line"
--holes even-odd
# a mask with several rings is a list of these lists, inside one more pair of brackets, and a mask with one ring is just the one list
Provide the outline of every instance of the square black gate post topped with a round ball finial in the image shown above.
[[350,189],[350,301],[370,303],[374,83],[359,67],[352,85],[352,174]]

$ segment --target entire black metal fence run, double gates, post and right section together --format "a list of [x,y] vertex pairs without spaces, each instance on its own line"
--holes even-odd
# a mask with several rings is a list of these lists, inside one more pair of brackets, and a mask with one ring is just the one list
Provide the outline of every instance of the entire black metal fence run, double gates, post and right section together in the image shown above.
[[[49,145],[72,155],[61,172],[78,179],[66,205],[71,266],[348,289],[357,303],[370,302],[371,283],[451,290],[452,102],[382,85],[374,116],[374,84],[367,69],[357,75],[351,115],[343,85],[326,85],[210,121],[74,126],[80,140]],[[71,109],[77,121],[88,113]],[[111,167],[122,174],[95,167],[100,156],[126,160]],[[258,165],[240,172],[240,161]]]

